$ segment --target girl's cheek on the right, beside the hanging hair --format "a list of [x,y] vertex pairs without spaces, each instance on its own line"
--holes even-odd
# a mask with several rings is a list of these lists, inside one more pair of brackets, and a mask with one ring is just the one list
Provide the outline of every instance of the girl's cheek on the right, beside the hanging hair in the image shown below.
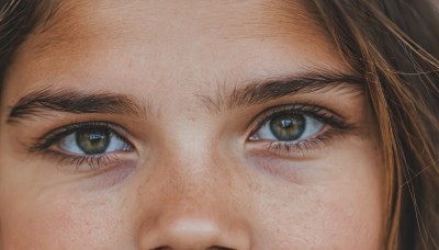
[[300,170],[306,172],[300,183],[264,180],[259,243],[277,242],[277,249],[380,249],[383,180],[379,159],[368,151],[346,149],[313,161]]

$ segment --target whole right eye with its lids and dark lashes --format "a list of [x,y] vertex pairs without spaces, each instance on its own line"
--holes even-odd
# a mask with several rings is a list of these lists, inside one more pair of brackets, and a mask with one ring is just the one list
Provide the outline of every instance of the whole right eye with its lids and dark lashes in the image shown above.
[[307,158],[318,154],[327,143],[354,129],[337,113],[317,105],[273,106],[251,123],[248,137],[254,152],[282,158]]

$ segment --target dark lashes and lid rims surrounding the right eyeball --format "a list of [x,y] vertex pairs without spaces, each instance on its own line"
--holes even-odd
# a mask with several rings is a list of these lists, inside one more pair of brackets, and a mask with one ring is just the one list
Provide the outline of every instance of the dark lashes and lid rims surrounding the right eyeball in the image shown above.
[[[250,141],[260,143],[263,141],[266,149],[275,155],[286,155],[290,157],[292,152],[297,156],[304,156],[309,149],[317,148],[323,144],[326,144],[329,139],[335,136],[344,135],[344,133],[349,132],[354,128],[353,125],[344,122],[335,112],[329,111],[325,107],[311,104],[292,104],[292,105],[279,105],[270,107],[260,114],[251,126],[250,135],[254,135],[261,126],[268,121],[284,115],[284,114],[299,114],[299,115],[309,115],[313,118],[322,122],[324,124],[323,132],[318,132],[317,135],[313,137],[305,138],[303,140],[252,140]],[[329,126],[329,128],[325,128]],[[251,137],[251,136],[250,136]]]

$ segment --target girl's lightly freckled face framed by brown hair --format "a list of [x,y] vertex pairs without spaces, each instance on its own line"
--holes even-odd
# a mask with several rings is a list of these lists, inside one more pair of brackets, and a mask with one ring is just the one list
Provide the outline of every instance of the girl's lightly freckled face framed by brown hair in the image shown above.
[[4,249],[379,249],[361,79],[295,1],[63,1],[4,80]]

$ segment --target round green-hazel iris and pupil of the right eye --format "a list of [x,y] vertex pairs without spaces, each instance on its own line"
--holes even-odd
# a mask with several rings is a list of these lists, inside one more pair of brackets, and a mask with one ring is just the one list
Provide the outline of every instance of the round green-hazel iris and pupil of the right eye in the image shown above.
[[271,120],[270,129],[279,140],[295,140],[305,130],[305,118],[295,114],[280,115]]

